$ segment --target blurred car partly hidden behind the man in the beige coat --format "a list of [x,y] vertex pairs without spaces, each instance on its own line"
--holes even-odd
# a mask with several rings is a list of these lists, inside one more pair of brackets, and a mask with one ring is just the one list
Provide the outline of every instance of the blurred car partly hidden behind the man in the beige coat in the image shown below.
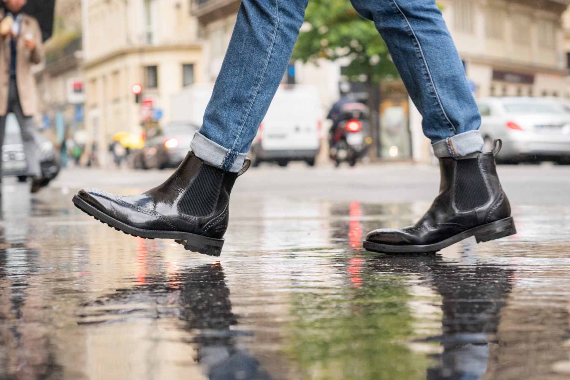
[[[47,185],[57,177],[62,161],[54,144],[38,134],[38,158],[42,168],[42,180]],[[27,180],[27,162],[18,120],[13,113],[6,116],[4,145],[2,146],[2,177],[18,177],[20,182]]]

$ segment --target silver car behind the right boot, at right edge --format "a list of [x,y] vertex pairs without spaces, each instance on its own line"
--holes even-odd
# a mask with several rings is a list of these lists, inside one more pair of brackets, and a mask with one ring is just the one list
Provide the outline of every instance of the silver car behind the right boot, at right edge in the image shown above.
[[570,164],[570,112],[559,101],[535,97],[487,97],[477,101],[486,150],[503,141],[497,161]]

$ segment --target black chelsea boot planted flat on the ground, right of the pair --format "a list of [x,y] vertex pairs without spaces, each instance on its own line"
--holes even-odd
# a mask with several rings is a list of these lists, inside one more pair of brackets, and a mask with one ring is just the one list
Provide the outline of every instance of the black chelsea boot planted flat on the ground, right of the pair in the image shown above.
[[475,158],[440,158],[439,195],[416,225],[369,232],[368,251],[382,253],[437,252],[475,236],[477,243],[516,234],[511,206],[500,186],[493,152]]

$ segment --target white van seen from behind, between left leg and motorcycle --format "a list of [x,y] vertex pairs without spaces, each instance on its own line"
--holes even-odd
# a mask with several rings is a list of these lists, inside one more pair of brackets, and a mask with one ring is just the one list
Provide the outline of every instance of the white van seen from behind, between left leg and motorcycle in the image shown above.
[[321,145],[322,107],[314,85],[280,85],[248,156],[287,166],[290,161],[315,165]]

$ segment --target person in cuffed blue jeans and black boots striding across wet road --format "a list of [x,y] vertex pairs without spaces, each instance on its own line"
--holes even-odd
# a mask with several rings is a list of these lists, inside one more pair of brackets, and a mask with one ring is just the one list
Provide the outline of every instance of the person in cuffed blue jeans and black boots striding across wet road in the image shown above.
[[[75,205],[101,222],[142,238],[170,238],[219,255],[235,179],[290,62],[308,0],[243,0],[202,128],[166,182],[137,195],[84,189]],[[511,209],[483,153],[477,104],[435,0],[352,0],[384,38],[423,116],[441,167],[441,192],[415,226],[370,232],[378,252],[433,252],[469,236],[514,234]],[[381,201],[381,199],[378,199]]]

